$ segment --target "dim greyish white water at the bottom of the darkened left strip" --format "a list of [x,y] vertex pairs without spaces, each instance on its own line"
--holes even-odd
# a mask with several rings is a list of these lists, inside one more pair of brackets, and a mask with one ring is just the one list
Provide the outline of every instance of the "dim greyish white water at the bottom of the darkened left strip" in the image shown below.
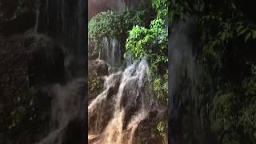
[[51,132],[38,144],[62,144],[67,126],[75,118],[80,118],[83,103],[81,91],[84,78],[77,78],[65,86],[56,84],[52,87]]

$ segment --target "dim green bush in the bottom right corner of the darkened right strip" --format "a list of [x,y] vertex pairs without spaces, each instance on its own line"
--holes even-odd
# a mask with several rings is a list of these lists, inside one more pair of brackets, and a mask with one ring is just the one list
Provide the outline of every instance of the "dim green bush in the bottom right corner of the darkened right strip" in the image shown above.
[[[245,78],[242,87],[218,90],[211,111],[212,128],[222,143],[256,141],[256,75]],[[245,139],[246,138],[246,139]]]

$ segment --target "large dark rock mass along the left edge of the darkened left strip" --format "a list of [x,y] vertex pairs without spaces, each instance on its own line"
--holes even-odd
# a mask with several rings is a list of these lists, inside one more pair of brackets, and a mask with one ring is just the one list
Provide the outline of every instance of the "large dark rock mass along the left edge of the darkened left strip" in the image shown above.
[[[11,38],[2,38],[1,40],[0,91],[1,102],[5,102],[2,103],[3,111],[1,115],[11,118],[11,113],[18,108],[17,106],[30,106],[32,108],[34,104],[29,105],[32,99],[33,102],[38,103],[34,107],[39,109],[34,113],[49,113],[51,98],[43,89],[51,83],[64,82],[66,79],[65,54],[62,46],[59,46],[51,38],[43,34],[16,35]],[[30,95],[30,90],[32,89],[34,92],[33,95]],[[28,118],[30,118],[29,113],[29,110],[24,112],[25,115],[28,114],[26,116]],[[35,120],[45,122],[40,125],[36,124],[33,127],[34,134],[30,135],[31,138],[27,140],[28,142],[37,141],[40,136],[36,135],[41,135],[48,131],[49,116],[45,119],[35,117]],[[22,125],[26,126],[24,123]],[[43,131],[38,130],[40,127],[42,127]],[[27,127],[27,129],[30,129],[30,127]],[[0,133],[6,134],[4,130],[5,128],[3,127]],[[23,130],[18,133],[22,134]],[[6,139],[9,138],[5,135],[4,137]],[[23,141],[24,138],[18,139]],[[3,142],[6,141],[3,140]]]

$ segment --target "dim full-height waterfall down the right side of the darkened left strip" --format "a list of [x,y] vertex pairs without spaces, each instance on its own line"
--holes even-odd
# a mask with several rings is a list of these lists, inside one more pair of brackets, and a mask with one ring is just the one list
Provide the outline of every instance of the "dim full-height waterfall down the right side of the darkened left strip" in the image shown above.
[[84,0],[42,1],[38,33],[47,34],[62,46],[66,78],[49,86],[50,132],[38,143],[81,143],[85,141],[86,118],[86,27]]

